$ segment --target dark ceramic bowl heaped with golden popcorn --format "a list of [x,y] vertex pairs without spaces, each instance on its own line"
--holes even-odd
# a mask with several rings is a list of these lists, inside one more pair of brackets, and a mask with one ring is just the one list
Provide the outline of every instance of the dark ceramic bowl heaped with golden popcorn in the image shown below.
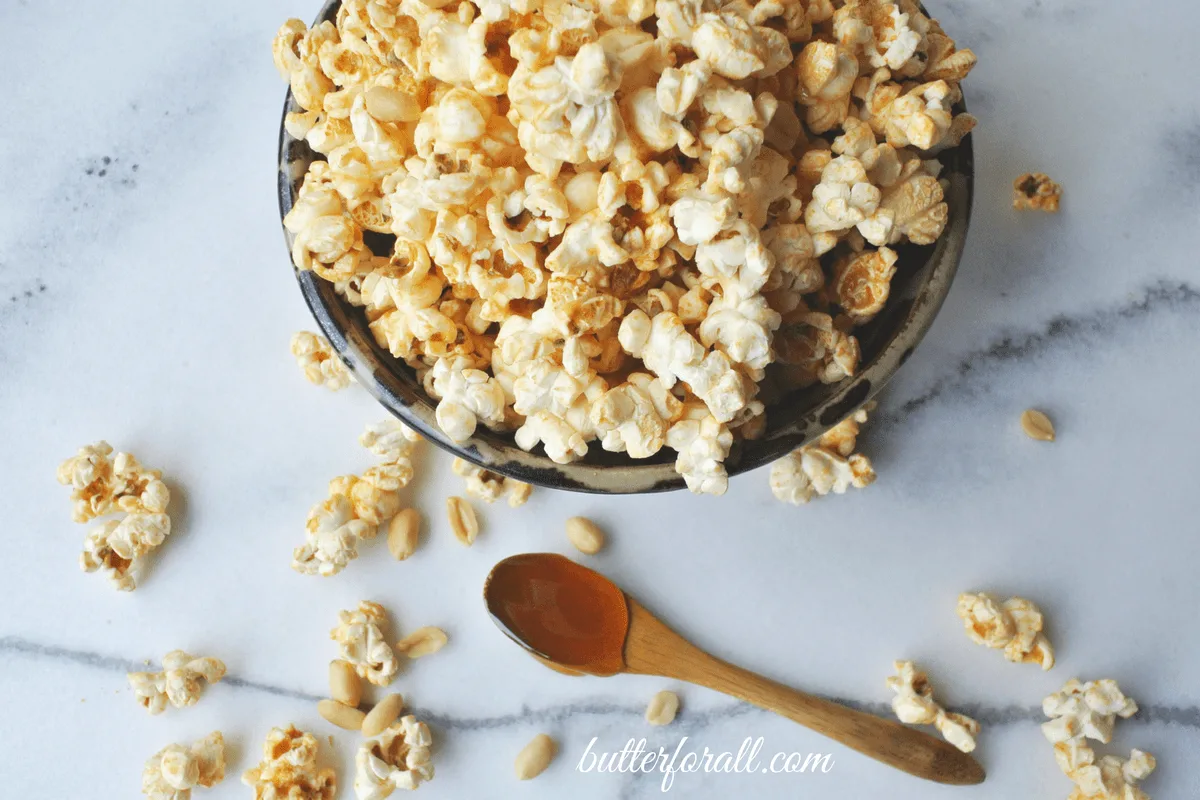
[[722,493],[870,401],[962,253],[976,59],[912,0],[344,0],[272,50],[322,332],[522,481]]

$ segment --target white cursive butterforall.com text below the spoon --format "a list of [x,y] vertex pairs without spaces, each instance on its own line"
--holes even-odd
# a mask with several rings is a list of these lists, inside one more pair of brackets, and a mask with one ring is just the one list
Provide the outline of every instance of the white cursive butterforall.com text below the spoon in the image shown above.
[[673,751],[664,747],[647,750],[646,739],[629,739],[625,746],[616,751],[596,750],[599,736],[588,742],[580,763],[575,769],[580,772],[624,772],[662,774],[662,792],[670,792],[676,775],[692,772],[728,772],[744,775],[792,775],[828,772],[833,769],[830,753],[786,753],[776,752],[770,757],[762,754],[763,738],[742,740],[737,753],[732,751],[712,751],[689,748],[688,736],[679,740]]

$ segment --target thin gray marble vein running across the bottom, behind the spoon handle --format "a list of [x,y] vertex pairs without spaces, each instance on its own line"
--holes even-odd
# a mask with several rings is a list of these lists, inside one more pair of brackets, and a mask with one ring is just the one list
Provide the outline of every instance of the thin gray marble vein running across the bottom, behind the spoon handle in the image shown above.
[[[144,663],[132,658],[109,656],[89,650],[76,650],[55,644],[42,644],[19,636],[6,636],[0,638],[0,655],[23,656],[30,660],[44,658],[52,661],[64,661],[80,667],[89,667],[104,672],[130,673],[145,669]],[[305,692],[302,690],[272,686],[271,684],[263,684],[233,675],[227,675],[221,682],[222,685],[233,686],[235,688],[247,688],[254,692],[275,694],[277,697],[288,697],[308,703],[316,703],[322,699],[322,696]],[[892,715],[892,706],[888,703],[863,703],[845,697],[829,697],[827,699],[882,717],[889,717]],[[498,728],[529,726],[534,723],[562,723],[570,717],[578,716],[641,718],[646,712],[646,706],[644,704],[635,705],[629,703],[613,703],[611,700],[592,699],[580,703],[550,705],[540,709],[526,705],[517,712],[479,717],[450,716],[433,711],[425,711],[420,708],[414,708],[413,710],[436,728],[469,732],[493,730]],[[982,724],[989,727],[1015,724],[1020,722],[1040,722],[1045,720],[1040,706],[1025,708],[1019,705],[1007,705],[990,708],[979,704],[965,704],[956,706],[955,710],[974,717]],[[772,712],[757,709],[746,703],[728,703],[702,711],[685,711],[680,714],[677,729],[680,733],[688,733],[708,728],[713,724],[726,722],[737,717],[760,714],[768,715]],[[1138,716],[1130,720],[1130,722],[1178,724],[1184,728],[1200,730],[1200,706],[1144,705],[1141,706]]]

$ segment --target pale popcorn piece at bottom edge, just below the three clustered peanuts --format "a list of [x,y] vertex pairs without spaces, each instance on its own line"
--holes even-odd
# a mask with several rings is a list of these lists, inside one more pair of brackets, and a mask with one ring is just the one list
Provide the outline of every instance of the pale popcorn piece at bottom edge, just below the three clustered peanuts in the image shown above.
[[354,796],[383,800],[396,789],[415,789],[433,780],[433,736],[424,722],[408,715],[359,745],[354,756]]

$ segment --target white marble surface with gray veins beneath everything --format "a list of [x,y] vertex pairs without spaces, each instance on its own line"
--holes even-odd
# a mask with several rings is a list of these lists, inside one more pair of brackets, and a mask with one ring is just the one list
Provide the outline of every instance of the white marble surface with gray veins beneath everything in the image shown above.
[[[438,740],[430,798],[640,798],[658,777],[583,775],[605,748],[652,745],[832,752],[826,775],[680,776],[686,798],[1062,798],[1036,727],[1073,675],[1117,678],[1144,711],[1116,744],[1159,756],[1145,784],[1194,798],[1200,751],[1200,7],[1138,14],[1108,0],[930,4],[980,58],[967,83],[978,188],[968,253],[928,339],[894,381],[865,450],[878,482],[793,509],[764,471],[721,499],[536,492],[486,510],[473,549],[439,512],[458,491],[426,452],[413,503],[431,535],[410,561],[382,542],[342,576],[288,569],[325,481],[361,469],[355,443],[380,410],[362,392],[307,385],[287,353],[310,327],[274,196],[283,86],[269,42],[295,0],[130,0],[0,8],[0,497],[8,553],[0,600],[4,790],[23,800],[136,796],[143,760],[214,728],[230,778],[272,724],[332,733],[316,715],[338,608],[376,599],[451,645],[397,686]],[[1009,184],[1043,169],[1058,216],[1019,216]],[[1058,423],[1027,440],[1027,405]],[[174,481],[176,533],[143,588],[78,571],[58,462],[97,438]],[[566,552],[562,521],[612,531],[594,564],[715,652],[858,703],[887,700],[896,657],[930,669],[948,704],[984,723],[979,787],[925,784],[707,691],[680,690],[677,724],[641,711],[664,681],[571,679],[508,643],[480,602],[490,566]],[[1019,593],[1046,610],[1060,666],[1016,667],[962,636],[954,599]],[[186,648],[234,676],[196,708],[149,717],[125,672]],[[563,754],[517,786],[534,733]],[[332,753],[350,796],[352,736]]]

